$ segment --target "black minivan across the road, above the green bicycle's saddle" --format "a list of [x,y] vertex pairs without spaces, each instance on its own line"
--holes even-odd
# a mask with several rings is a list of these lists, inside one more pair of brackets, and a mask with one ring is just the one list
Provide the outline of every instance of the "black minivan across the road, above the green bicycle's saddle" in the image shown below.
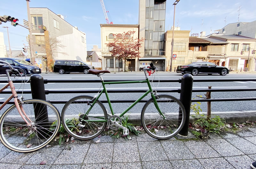
[[59,72],[60,74],[71,72],[88,74],[89,69],[92,69],[92,66],[84,62],[74,60],[55,60],[53,66],[53,72]]

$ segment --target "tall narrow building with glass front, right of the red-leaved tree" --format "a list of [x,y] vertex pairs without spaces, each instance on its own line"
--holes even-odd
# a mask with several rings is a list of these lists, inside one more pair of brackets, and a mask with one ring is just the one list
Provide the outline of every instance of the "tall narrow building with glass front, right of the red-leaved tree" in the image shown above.
[[165,70],[165,9],[166,0],[139,0],[139,38],[145,38],[139,49],[140,66],[153,62]]

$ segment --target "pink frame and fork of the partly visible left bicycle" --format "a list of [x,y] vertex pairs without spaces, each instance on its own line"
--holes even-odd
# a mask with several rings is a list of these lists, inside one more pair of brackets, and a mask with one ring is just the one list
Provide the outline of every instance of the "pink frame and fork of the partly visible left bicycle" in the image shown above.
[[[7,70],[8,71],[8,70]],[[11,71],[11,70],[10,70]],[[16,106],[16,108],[17,108],[17,110],[18,110],[18,112],[19,112],[19,114],[20,114],[20,116],[21,116],[21,118],[27,123],[27,125],[31,125],[31,124],[29,124],[29,122],[28,121],[30,121],[30,122],[32,122],[30,119],[29,119],[29,117],[28,117],[28,115],[25,113],[25,111],[24,111],[24,109],[23,109],[23,107],[22,107],[22,105],[20,104],[19,105],[19,103],[20,103],[20,100],[18,100],[18,95],[17,95],[17,92],[15,91],[15,87],[14,87],[14,85],[13,85],[13,82],[12,82],[12,79],[10,78],[10,76],[9,76],[9,74],[7,73],[7,76],[8,76],[8,84],[7,85],[5,85],[2,89],[0,89],[0,93],[4,90],[4,89],[6,89],[7,87],[11,87],[11,91],[12,91],[12,95],[7,99],[7,100],[5,100],[5,102],[0,106],[0,110],[12,99],[12,98],[14,98],[14,104],[15,104],[15,106]],[[23,115],[24,114],[24,115]],[[25,117],[28,119],[25,119]]]

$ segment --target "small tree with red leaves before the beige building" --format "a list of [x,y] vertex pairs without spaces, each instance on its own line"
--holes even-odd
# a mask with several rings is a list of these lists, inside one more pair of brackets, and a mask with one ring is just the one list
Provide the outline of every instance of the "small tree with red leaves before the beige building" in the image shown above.
[[144,38],[133,38],[135,31],[128,31],[124,33],[113,34],[114,40],[106,43],[106,45],[112,49],[110,52],[112,56],[117,56],[117,59],[124,60],[124,71],[126,66],[126,59],[129,57],[139,57],[139,48]]

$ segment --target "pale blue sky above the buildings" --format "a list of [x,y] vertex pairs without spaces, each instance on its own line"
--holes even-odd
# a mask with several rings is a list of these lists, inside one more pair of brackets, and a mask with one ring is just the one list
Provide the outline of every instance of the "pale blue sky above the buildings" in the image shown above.
[[[165,31],[173,24],[172,5],[175,0],[167,0]],[[107,11],[114,24],[138,24],[139,0],[104,0]],[[23,25],[23,19],[28,20],[26,0],[9,0],[9,6],[0,6],[0,15],[10,15],[19,18]],[[12,7],[15,4],[15,7]],[[228,23],[235,23],[238,19],[238,7],[240,9],[240,22],[252,22],[256,20],[256,0],[180,0],[176,5],[175,26],[180,30],[190,30],[192,33],[206,31],[206,35],[214,30],[221,29]],[[100,4],[100,0],[31,0],[30,7],[46,7],[56,14],[66,16],[66,21],[79,30],[86,33],[87,50],[93,45],[100,48],[100,24],[106,20]],[[202,25],[203,19],[203,25]],[[23,44],[27,44],[28,30],[21,26],[11,26],[11,23],[0,25],[0,32],[4,33],[4,41],[9,49],[7,31],[2,26],[8,26],[12,50],[19,50]]]

